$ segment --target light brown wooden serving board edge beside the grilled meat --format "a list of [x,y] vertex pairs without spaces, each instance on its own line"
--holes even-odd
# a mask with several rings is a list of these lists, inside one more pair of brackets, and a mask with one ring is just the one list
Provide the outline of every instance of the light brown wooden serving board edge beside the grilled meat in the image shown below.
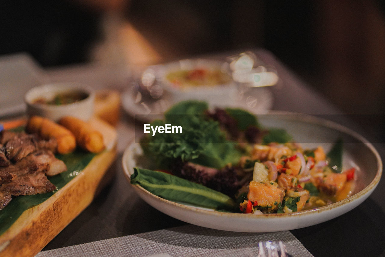
[[43,203],[24,211],[0,236],[0,256],[34,256],[94,199],[116,156],[117,132],[98,118],[90,120],[104,136],[107,149]]

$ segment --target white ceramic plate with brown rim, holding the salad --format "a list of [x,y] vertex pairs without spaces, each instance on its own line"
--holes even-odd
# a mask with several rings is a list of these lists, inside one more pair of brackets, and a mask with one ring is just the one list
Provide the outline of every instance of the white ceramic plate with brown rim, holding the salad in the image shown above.
[[[131,185],[139,196],[169,216],[202,227],[235,232],[274,232],[308,227],[340,216],[362,203],[373,192],[382,173],[380,156],[370,142],[352,130],[319,118],[274,113],[259,115],[264,127],[285,128],[303,147],[322,145],[329,150],[335,140],[344,142],[343,164],[358,167],[356,192],[345,200],[313,210],[296,213],[252,215],[224,213],[165,200],[139,185]],[[123,155],[123,168],[128,180],[137,166],[141,148],[138,143],[129,145]],[[144,165],[146,164],[144,163]]]

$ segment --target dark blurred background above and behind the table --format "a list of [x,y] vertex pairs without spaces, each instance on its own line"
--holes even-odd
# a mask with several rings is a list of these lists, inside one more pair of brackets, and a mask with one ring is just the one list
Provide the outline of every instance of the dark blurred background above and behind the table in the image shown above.
[[341,110],[378,115],[373,126],[384,128],[383,1],[13,0],[0,7],[0,54],[28,52],[43,67],[88,63],[105,39],[102,17],[115,12],[163,61],[268,49]]

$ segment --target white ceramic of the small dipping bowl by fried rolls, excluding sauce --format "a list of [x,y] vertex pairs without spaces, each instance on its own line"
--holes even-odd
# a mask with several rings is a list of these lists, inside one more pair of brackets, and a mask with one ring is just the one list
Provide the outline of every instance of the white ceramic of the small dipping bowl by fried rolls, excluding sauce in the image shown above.
[[[71,91],[83,91],[88,96],[83,100],[62,105],[34,103],[39,98],[51,100],[59,93]],[[52,83],[32,88],[25,94],[24,100],[28,116],[40,115],[58,121],[61,117],[70,115],[87,121],[94,112],[95,92],[90,87],[78,83]]]

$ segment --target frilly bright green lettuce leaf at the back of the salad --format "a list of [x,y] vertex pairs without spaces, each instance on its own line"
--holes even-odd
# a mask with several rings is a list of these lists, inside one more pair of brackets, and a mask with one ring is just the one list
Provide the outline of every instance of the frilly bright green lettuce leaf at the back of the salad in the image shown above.
[[[186,114],[181,114],[183,110]],[[165,113],[165,121],[156,120],[151,125],[171,123],[181,126],[182,133],[147,135],[141,140],[144,153],[154,156],[159,168],[166,168],[179,158],[217,169],[237,162],[242,153],[235,142],[226,140],[218,122],[201,114],[206,110],[207,104],[199,101],[185,101],[172,107]]]

